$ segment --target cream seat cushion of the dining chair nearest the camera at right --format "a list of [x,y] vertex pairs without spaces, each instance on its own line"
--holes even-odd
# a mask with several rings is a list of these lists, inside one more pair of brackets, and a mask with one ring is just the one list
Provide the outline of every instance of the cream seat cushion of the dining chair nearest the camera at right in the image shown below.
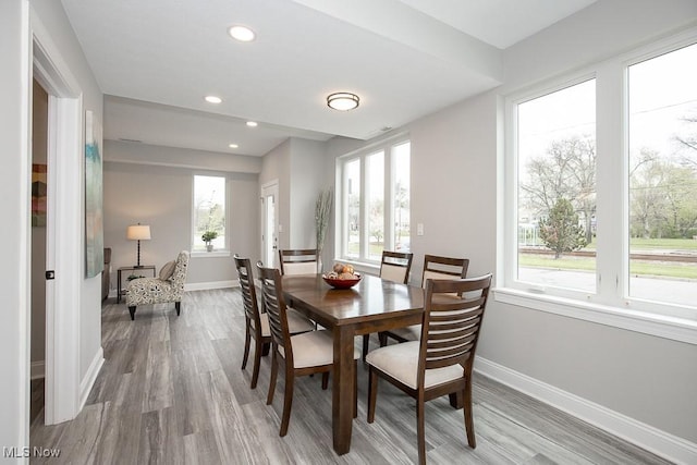
[[[416,389],[419,345],[419,341],[412,341],[376,348],[368,353],[366,362],[409,388]],[[460,365],[426,370],[424,387],[430,388],[453,381],[462,378],[463,375],[464,369]]]

